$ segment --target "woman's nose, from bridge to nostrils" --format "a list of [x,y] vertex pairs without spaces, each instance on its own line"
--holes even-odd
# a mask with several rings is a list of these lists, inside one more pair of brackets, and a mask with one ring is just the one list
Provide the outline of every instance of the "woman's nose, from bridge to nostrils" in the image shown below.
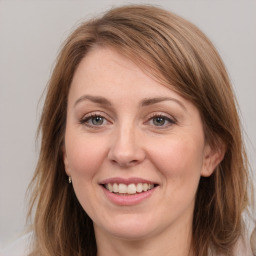
[[123,125],[113,134],[108,158],[120,167],[131,167],[141,163],[146,156],[145,150],[138,139],[136,128]]

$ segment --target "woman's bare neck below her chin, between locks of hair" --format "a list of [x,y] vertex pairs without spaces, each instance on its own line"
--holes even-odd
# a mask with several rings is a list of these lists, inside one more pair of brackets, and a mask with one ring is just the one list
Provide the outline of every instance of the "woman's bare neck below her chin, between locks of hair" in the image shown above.
[[190,225],[179,230],[166,228],[161,234],[132,240],[109,235],[95,227],[97,256],[193,256],[191,230]]

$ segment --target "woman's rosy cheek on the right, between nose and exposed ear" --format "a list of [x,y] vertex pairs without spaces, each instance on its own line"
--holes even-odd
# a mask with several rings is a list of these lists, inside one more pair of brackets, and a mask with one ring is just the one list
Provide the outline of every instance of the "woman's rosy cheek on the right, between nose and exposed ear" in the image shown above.
[[152,161],[168,183],[177,187],[197,186],[203,164],[201,140],[170,139],[169,142],[162,141],[151,150]]

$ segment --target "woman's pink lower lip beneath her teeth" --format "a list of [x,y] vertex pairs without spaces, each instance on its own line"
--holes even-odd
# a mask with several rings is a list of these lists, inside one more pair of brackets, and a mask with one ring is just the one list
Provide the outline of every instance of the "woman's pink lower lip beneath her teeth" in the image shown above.
[[111,193],[109,190],[104,188],[102,186],[102,189],[106,195],[106,197],[114,204],[120,205],[120,206],[127,206],[127,205],[136,205],[139,204],[145,200],[147,200],[149,197],[152,196],[152,194],[155,192],[157,187],[154,187],[146,192],[141,192],[138,194],[132,194],[132,195],[118,195]]

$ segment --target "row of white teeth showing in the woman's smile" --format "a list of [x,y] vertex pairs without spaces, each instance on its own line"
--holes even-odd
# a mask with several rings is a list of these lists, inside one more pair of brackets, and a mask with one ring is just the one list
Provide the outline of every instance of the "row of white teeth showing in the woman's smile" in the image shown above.
[[108,183],[105,185],[105,188],[109,190],[110,192],[114,193],[120,193],[120,194],[136,194],[141,192],[146,192],[152,188],[154,188],[154,184],[147,184],[147,183],[138,183],[137,185],[134,183],[131,183],[129,185],[120,183]]

